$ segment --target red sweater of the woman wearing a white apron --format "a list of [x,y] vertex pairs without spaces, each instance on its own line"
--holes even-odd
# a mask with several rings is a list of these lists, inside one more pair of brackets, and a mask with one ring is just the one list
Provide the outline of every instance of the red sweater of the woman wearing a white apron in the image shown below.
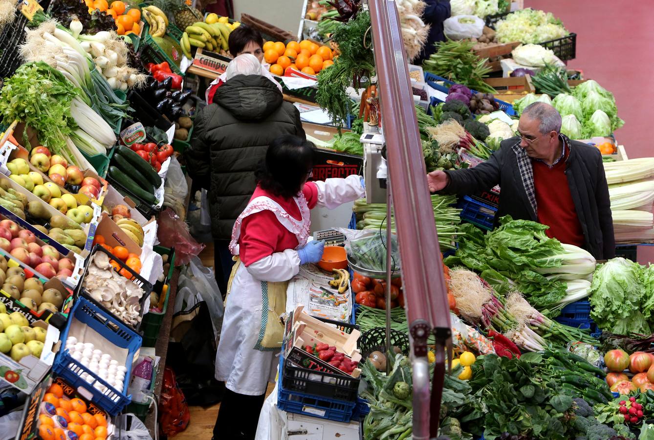
[[[302,190],[309,209],[313,209],[318,203],[318,187],[313,182],[307,182]],[[300,209],[293,199],[283,199],[262,190],[259,186],[254,190],[252,198],[265,195],[273,199],[284,211],[288,212],[296,220],[301,220]],[[250,200],[251,200],[250,199]],[[245,267],[256,263],[262,258],[275,253],[283,252],[286,249],[294,249],[298,246],[298,239],[295,234],[288,231],[277,221],[277,216],[271,211],[260,211],[251,214],[243,219],[241,224],[241,237],[239,238],[239,256]]]

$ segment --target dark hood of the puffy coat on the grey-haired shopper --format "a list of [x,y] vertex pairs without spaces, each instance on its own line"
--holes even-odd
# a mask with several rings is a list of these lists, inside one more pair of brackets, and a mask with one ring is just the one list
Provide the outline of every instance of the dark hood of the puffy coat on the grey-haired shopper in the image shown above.
[[277,110],[283,95],[261,75],[237,75],[216,90],[214,103],[240,120],[262,120]]

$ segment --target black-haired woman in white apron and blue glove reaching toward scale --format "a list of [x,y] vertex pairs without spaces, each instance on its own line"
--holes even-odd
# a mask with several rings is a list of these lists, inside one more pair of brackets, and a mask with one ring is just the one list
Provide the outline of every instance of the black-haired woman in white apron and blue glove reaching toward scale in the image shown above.
[[[286,283],[300,265],[317,263],[323,243],[309,241],[309,210],[336,208],[365,195],[358,176],[307,182],[314,146],[292,135],[270,144],[257,187],[232,231],[237,256],[216,353],[216,379],[226,382],[215,439],[254,439],[267,383],[275,381]],[[280,307],[281,306],[281,307]],[[279,313],[281,309],[281,313]],[[281,332],[281,333],[280,333]]]

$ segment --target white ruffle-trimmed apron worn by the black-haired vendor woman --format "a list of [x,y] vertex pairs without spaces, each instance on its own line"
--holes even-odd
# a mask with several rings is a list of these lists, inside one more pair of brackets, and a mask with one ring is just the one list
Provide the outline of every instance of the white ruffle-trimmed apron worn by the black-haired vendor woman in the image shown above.
[[[309,239],[311,216],[303,194],[294,197],[294,201],[300,209],[301,220],[296,220],[269,197],[252,199],[232,229],[232,254],[239,255],[238,239],[243,218],[260,211],[273,212],[277,221],[297,237],[297,248],[304,246]],[[238,265],[226,301],[216,352],[216,380],[226,382],[227,388],[233,392],[249,396],[265,394],[267,382],[275,381],[279,363],[279,349],[255,348],[265,328],[262,310],[264,303],[267,305],[268,302],[262,285],[266,286],[266,282],[252,277],[245,265]]]

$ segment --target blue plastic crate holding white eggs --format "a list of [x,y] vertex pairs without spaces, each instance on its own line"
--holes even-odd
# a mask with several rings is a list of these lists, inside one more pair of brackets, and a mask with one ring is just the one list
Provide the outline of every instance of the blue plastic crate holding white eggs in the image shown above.
[[[54,358],[52,369],[55,373],[63,377],[66,382],[71,384],[73,388],[84,388],[84,390],[92,394],[91,400],[101,409],[107,411],[112,416],[118,415],[131,401],[131,396],[127,395],[127,390],[129,378],[131,377],[131,364],[133,363],[134,355],[141,348],[141,336],[84,297],[77,298],[69,316],[72,316],[72,319],[68,320],[65,330],[63,330],[63,335],[61,335],[61,341],[68,339],[68,332],[71,329],[73,320],[78,320],[107,339],[107,343],[128,350],[125,363],[127,371],[125,372],[126,380],[124,389],[114,390],[112,386],[100,379],[88,367],[73,359],[69,350],[64,349],[58,352],[56,358]],[[82,379],[81,377],[84,373],[88,376],[86,379]],[[99,384],[107,387],[107,390],[100,392],[95,388]]]

